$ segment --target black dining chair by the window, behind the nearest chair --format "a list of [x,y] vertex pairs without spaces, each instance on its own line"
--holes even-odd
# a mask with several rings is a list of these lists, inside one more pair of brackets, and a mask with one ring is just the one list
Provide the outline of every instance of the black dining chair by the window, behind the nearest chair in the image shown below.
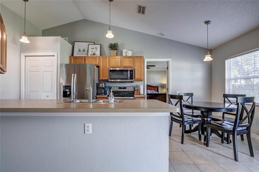
[[[224,98],[224,101],[223,103],[226,103],[226,99],[229,101],[230,104],[234,105],[234,103],[230,100],[231,98],[234,98],[236,99],[236,97],[246,97],[245,94],[223,94],[223,98]],[[236,105],[237,103],[235,103]],[[233,115],[235,116],[236,114],[235,113],[230,113],[230,112],[223,112],[222,113],[222,116],[212,116],[212,120],[213,121],[228,121],[228,122],[234,122],[235,121],[235,118],[230,118],[230,117],[227,117],[225,116],[225,114],[228,114],[228,115]],[[242,115],[241,115],[242,116]],[[225,133],[221,133],[222,135],[222,138],[221,138],[221,143],[224,143],[224,137],[225,137]],[[241,137],[241,140],[244,141],[244,136],[243,135],[240,135]]]

